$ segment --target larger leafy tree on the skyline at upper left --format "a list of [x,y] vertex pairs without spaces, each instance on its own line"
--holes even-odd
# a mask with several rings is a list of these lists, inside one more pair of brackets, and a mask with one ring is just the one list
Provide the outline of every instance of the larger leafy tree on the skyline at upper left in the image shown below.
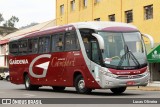
[[3,24],[3,26],[4,26],[4,27],[12,27],[12,28],[14,28],[16,22],[19,22],[18,17],[12,16],[9,20],[7,20],[7,21]]

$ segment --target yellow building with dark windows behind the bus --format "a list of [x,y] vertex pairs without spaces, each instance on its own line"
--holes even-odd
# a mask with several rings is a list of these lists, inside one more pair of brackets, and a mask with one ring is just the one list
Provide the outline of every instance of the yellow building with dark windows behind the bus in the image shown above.
[[[151,35],[156,47],[160,42],[159,4],[160,0],[56,0],[56,24],[84,21],[125,22]],[[150,49],[149,41],[146,38],[144,40],[149,55],[154,50]],[[157,62],[154,59],[150,62],[151,80],[160,81],[160,69],[155,67],[160,66],[160,60]]]

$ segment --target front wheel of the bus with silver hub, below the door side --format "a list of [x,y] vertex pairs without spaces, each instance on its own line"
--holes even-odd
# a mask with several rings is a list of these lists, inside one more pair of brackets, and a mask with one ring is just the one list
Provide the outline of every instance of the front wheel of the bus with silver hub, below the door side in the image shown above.
[[85,87],[85,81],[82,75],[78,75],[75,79],[75,88],[76,91],[80,94],[87,94],[92,91],[92,89]]

